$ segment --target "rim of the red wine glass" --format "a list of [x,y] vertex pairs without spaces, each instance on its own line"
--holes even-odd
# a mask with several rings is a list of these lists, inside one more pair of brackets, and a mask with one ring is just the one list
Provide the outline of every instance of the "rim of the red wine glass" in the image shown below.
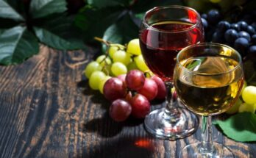
[[[154,10],[163,10],[163,9],[168,9],[168,8],[176,8],[176,9],[184,9],[184,10],[192,10],[193,12],[196,13],[196,18],[198,18],[199,21],[196,21],[195,24],[189,26],[188,28],[186,29],[182,29],[182,30],[179,30],[179,31],[171,31],[171,30],[168,30],[168,31],[165,31],[163,29],[157,29],[157,28],[154,28],[152,27],[151,25],[147,24],[146,23],[146,15],[149,14],[149,12],[152,12]],[[185,7],[185,6],[182,6],[182,5],[167,5],[167,6],[158,6],[158,7],[153,7],[152,9],[146,11],[145,15],[143,16],[143,21],[142,21],[142,24],[144,24],[147,28],[150,28],[152,30],[156,30],[157,32],[166,32],[166,33],[180,33],[180,32],[186,32],[186,31],[189,31],[191,29],[194,29],[196,28],[196,25],[199,24],[199,22],[201,21],[201,16],[199,14],[199,12],[197,12],[195,9],[191,8],[191,7]]]

